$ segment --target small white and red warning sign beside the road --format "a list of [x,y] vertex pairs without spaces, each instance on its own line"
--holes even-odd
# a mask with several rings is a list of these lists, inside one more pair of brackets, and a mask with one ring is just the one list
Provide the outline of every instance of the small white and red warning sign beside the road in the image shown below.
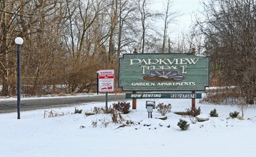
[[114,70],[99,70],[99,92],[114,91]]

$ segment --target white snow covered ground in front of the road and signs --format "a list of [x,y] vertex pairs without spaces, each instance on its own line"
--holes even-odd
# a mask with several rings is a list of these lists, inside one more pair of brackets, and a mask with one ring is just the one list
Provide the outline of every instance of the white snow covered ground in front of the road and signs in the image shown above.
[[[84,113],[92,111],[94,106],[104,107],[105,103],[79,105],[81,114],[74,113],[74,107],[25,112],[22,106],[19,120],[16,113],[0,114],[1,156],[256,156],[255,106],[247,109],[245,120],[239,120],[229,116],[230,112],[239,111],[237,106],[202,104],[197,100],[201,116],[210,120],[192,123],[189,116],[174,113],[190,108],[191,99],[150,99],[156,104],[172,104],[166,121],[157,118],[161,115],[156,109],[153,118],[148,118],[145,101],[138,99],[137,109],[131,107],[128,114],[122,115],[134,125],[120,128],[122,124],[112,123],[109,114],[85,116]],[[214,108],[219,117],[209,116]],[[50,111],[57,115],[49,118]],[[59,116],[61,114],[64,115]],[[180,118],[189,123],[187,131],[177,126]],[[97,127],[94,127],[92,123],[96,122]]]

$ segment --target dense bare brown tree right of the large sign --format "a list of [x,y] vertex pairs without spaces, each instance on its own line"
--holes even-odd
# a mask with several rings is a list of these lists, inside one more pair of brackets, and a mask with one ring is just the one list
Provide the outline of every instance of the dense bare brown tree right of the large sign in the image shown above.
[[236,86],[246,103],[256,96],[256,8],[253,0],[216,0],[205,4],[206,21],[198,21],[205,49],[221,86]]

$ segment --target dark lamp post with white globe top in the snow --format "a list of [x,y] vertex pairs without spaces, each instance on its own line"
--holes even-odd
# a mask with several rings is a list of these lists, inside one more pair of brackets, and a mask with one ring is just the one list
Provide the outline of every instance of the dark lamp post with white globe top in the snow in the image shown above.
[[14,40],[17,45],[17,113],[20,119],[20,109],[21,109],[21,44],[23,44],[23,39],[21,37],[16,37]]

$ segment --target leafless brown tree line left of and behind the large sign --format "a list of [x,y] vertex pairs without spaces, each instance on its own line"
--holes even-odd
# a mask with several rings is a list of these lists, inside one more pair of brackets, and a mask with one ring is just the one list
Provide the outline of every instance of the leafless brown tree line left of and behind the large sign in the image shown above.
[[169,9],[169,0],[164,2],[164,14],[152,11],[150,3],[1,0],[1,95],[16,95],[17,36],[24,39],[22,92],[32,95],[89,91],[95,84],[97,70],[117,71],[122,54],[132,53],[135,47],[139,53],[160,52],[160,43],[167,43],[168,31],[154,29],[154,20],[165,20],[162,27],[167,28],[176,14]]

